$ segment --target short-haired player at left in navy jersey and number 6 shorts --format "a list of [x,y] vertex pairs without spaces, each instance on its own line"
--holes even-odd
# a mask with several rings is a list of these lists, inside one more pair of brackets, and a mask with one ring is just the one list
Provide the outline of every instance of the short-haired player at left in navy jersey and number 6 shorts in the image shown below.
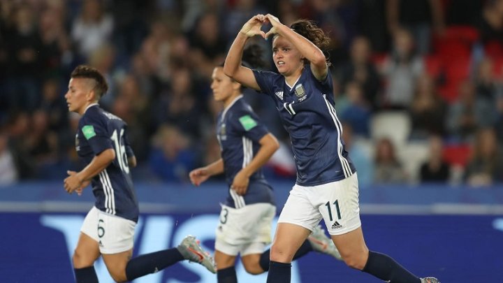
[[103,256],[116,282],[134,280],[184,259],[201,263],[215,273],[212,258],[190,235],[177,248],[131,259],[138,201],[129,168],[136,166],[136,158],[127,139],[126,123],[99,107],[98,101],[107,90],[107,82],[99,71],[81,65],[71,73],[65,94],[68,110],[82,116],[75,147],[85,168],[80,172],[68,171],[64,189],[70,194],[81,194],[92,183],[96,198],[82,224],[73,254],[76,282],[98,282],[93,265],[99,256]]

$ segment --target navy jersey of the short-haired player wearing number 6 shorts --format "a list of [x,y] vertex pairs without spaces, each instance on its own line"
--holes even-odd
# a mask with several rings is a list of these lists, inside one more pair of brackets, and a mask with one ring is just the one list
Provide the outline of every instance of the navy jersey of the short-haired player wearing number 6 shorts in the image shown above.
[[101,152],[112,148],[115,160],[92,179],[96,208],[125,219],[138,221],[138,201],[129,174],[128,158],[133,150],[126,138],[126,123],[119,117],[89,106],[79,121],[75,147],[84,166]]

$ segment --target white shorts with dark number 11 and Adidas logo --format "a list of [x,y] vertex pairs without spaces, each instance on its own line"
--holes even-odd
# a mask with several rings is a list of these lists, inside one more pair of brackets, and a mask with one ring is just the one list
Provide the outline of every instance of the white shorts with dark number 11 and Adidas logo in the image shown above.
[[290,191],[278,223],[290,223],[313,231],[321,219],[330,235],[342,235],[361,226],[356,173],[346,179]]

